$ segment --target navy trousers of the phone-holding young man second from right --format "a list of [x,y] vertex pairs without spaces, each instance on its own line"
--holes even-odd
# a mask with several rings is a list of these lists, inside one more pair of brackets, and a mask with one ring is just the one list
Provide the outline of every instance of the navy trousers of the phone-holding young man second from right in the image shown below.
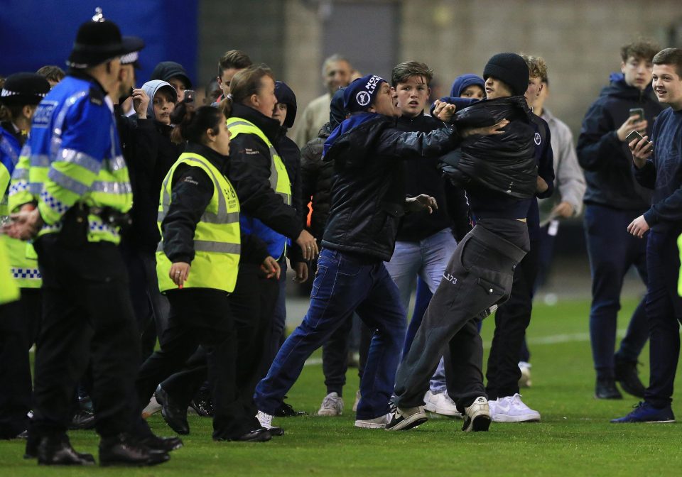
[[[597,378],[613,378],[620,292],[623,277],[632,265],[646,285],[646,240],[627,233],[627,226],[640,214],[601,205],[585,206],[585,237],[592,273],[590,341]],[[647,339],[649,326],[643,299],[632,314],[616,357],[636,363]]]

